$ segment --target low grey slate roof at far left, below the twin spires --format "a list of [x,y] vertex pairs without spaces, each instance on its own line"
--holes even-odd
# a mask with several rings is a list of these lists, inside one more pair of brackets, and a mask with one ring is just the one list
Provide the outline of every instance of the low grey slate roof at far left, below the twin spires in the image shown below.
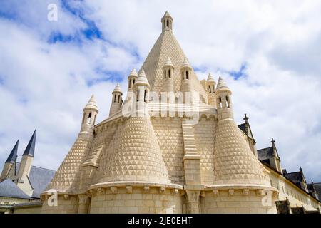
[[0,197],[12,197],[20,199],[31,199],[24,191],[9,179],[4,179],[0,182]]

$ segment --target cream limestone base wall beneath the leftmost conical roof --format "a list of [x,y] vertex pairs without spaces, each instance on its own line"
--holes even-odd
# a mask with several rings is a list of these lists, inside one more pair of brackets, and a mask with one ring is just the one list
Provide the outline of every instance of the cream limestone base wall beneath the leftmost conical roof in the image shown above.
[[76,214],[78,212],[78,197],[76,195],[58,195],[57,206],[49,206],[48,198],[43,198],[42,214]]

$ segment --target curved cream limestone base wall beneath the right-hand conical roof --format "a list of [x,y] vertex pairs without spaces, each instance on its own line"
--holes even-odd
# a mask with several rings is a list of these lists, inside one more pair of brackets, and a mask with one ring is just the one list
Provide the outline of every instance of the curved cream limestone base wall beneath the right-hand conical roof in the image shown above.
[[229,190],[218,192],[205,192],[205,197],[200,198],[201,213],[203,214],[276,214],[274,199],[270,206],[263,206],[263,195],[258,195],[256,190],[248,190],[246,195],[243,190]]

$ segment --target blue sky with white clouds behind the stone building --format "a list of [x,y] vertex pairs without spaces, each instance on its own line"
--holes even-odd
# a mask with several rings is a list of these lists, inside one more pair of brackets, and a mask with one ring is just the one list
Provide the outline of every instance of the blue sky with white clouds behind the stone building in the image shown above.
[[[49,4],[58,21],[49,21]],[[283,168],[321,182],[320,1],[0,0],[0,167],[34,128],[34,165],[56,169],[80,129],[83,106],[108,116],[117,82],[126,90],[161,33],[166,10],[199,79],[233,90],[235,120],[257,147],[276,140]]]

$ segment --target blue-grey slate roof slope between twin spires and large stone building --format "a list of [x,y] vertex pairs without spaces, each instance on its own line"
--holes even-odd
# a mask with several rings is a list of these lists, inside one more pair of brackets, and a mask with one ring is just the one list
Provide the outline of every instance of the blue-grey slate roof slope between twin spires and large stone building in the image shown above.
[[[20,162],[17,162],[17,170],[19,170]],[[33,198],[40,198],[40,193],[43,192],[49,182],[54,177],[56,171],[48,170],[41,167],[31,166],[29,181],[31,187],[34,189],[34,193],[32,194]]]

